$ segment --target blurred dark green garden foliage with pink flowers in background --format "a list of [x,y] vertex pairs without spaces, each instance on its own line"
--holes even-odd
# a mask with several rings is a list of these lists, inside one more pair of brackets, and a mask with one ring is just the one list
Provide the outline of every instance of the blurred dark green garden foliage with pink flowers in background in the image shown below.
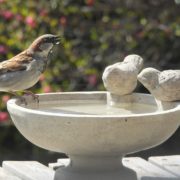
[[[128,54],[145,67],[180,69],[180,5],[173,0],[0,0],[0,61],[46,33],[62,37],[34,93],[104,90],[102,72]],[[136,91],[147,92],[138,85]],[[0,161],[55,162],[63,157],[28,142],[7,113],[1,93]],[[180,154],[180,130],[167,142],[132,156]]]

